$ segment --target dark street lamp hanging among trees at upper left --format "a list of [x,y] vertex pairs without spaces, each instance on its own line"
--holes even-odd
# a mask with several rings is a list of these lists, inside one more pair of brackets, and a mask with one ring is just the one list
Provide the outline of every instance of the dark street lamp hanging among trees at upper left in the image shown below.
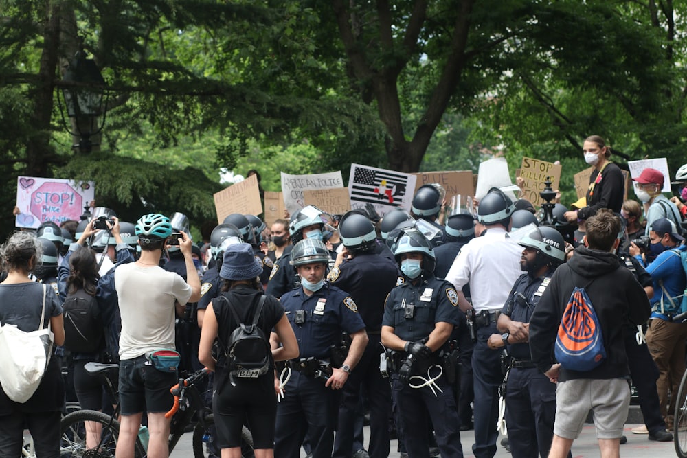
[[[88,153],[94,145],[91,136],[100,133],[105,124],[106,104],[102,103],[105,80],[100,74],[93,59],[87,59],[83,49],[77,51],[74,59],[69,62],[62,79],[62,96],[69,116],[69,124],[65,120],[65,113],[60,102],[60,114],[67,132],[78,137],[76,148],[79,152]],[[101,117],[102,116],[102,117]],[[100,118],[100,125],[98,124]]]

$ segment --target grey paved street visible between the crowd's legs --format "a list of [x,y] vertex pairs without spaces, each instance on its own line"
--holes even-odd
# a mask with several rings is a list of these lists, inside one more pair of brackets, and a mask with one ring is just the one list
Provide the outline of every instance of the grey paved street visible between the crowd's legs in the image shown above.
[[[638,424],[626,424],[625,425],[625,435],[627,435],[627,444],[620,446],[620,455],[622,457],[631,458],[664,458],[664,457],[675,457],[675,447],[673,442],[651,442],[647,439],[646,435],[632,434],[630,431]],[[369,437],[370,429],[365,426],[365,437]],[[467,434],[462,434],[462,444],[463,450],[465,452],[465,457],[474,457],[471,453],[471,447],[473,444],[474,437],[471,431]],[[390,458],[398,458],[401,455],[396,452],[396,446],[398,446],[397,441],[392,441],[392,453],[390,453]],[[177,448],[172,453],[172,458],[189,458],[192,457],[193,453],[191,450],[191,435],[185,434],[182,437],[181,442]],[[596,431],[593,424],[586,424],[582,431],[582,435],[575,441],[572,448],[573,458],[596,458],[599,456],[598,446],[596,445]],[[305,457],[302,453],[301,457]],[[497,458],[508,458],[510,453],[499,446],[499,450],[496,453]]]

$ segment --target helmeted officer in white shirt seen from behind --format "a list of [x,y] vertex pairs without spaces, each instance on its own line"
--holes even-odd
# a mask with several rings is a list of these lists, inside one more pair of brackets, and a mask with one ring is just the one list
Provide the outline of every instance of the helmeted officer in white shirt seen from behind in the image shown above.
[[[497,332],[497,315],[506,303],[510,286],[520,276],[521,248],[506,240],[513,214],[513,201],[493,187],[480,201],[477,217],[486,232],[465,244],[446,279],[458,290],[463,312],[472,314],[477,342],[472,356],[475,389],[474,417],[477,458],[492,458],[496,453],[499,396],[497,389],[503,380],[500,352],[492,350],[486,341]],[[462,291],[470,285],[470,304]]]

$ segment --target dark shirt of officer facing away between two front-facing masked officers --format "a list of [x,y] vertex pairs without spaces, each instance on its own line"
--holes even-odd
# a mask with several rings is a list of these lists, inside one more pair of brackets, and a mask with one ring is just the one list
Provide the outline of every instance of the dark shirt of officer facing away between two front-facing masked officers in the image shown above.
[[351,295],[365,323],[365,330],[379,334],[384,299],[398,280],[396,263],[374,253],[359,253],[352,260],[333,268],[328,279]]

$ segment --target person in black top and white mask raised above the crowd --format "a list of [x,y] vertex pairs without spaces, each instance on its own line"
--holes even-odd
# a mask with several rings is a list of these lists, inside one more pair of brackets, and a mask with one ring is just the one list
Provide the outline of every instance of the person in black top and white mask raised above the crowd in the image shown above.
[[625,180],[618,165],[609,161],[611,148],[606,146],[602,137],[592,135],[585,139],[582,152],[585,162],[594,166],[589,176],[587,206],[576,211],[566,211],[563,216],[569,222],[577,222],[593,216],[601,208],[608,208],[619,214],[624,199]]

